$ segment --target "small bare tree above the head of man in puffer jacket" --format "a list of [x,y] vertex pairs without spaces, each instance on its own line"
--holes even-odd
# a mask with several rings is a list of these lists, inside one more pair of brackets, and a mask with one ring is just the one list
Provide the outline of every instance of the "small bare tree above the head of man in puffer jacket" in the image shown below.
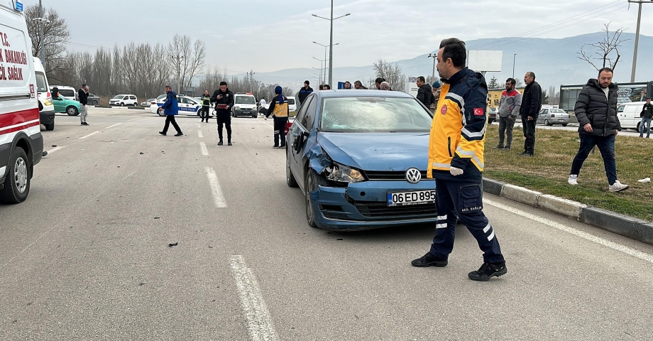
[[[597,71],[603,67],[610,67],[615,70],[617,63],[619,63],[619,58],[621,58],[619,47],[623,42],[630,40],[621,38],[621,33],[623,33],[624,28],[613,31],[612,36],[610,36],[610,23],[606,23],[604,26],[603,32],[605,32],[605,38],[598,43],[583,44],[581,51],[578,52],[578,59],[590,63]],[[588,45],[596,49],[593,54],[587,53],[584,50]]]

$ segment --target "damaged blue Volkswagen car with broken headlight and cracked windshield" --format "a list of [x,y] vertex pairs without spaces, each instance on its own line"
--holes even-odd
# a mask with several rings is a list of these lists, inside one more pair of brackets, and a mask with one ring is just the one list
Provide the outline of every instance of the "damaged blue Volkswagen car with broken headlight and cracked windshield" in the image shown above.
[[286,180],[312,227],[435,222],[427,179],[432,114],[402,92],[327,90],[304,100],[286,136]]

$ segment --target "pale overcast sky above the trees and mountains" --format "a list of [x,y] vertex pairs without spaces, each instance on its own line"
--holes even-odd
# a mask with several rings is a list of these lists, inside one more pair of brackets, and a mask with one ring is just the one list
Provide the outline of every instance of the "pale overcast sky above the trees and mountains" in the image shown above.
[[[78,44],[167,44],[180,33],[204,40],[207,65],[231,74],[319,67],[312,57],[324,59],[324,48],[312,41],[329,44],[329,21],[311,14],[329,17],[330,4],[329,0],[43,0],[43,6],[54,7],[67,20],[72,50],[95,50]],[[334,43],[340,44],[334,46],[334,67],[371,65],[378,58],[415,58],[450,37],[564,38],[600,31],[610,21],[611,28],[635,32],[637,6],[630,10],[626,6],[627,0],[334,0],[334,17],[351,13],[334,21]],[[653,36],[653,21],[646,19],[652,17],[653,4],[644,4],[642,34]]]

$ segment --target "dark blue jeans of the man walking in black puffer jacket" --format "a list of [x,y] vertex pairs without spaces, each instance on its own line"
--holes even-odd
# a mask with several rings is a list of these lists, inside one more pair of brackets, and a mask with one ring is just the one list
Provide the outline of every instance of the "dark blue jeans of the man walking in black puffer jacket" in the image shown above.
[[578,153],[571,163],[571,175],[578,175],[581,173],[583,162],[594,146],[598,147],[603,158],[603,166],[605,166],[605,175],[608,176],[608,183],[614,185],[617,181],[617,159],[615,158],[615,139],[616,135],[610,136],[595,136],[590,134],[578,134],[581,137],[581,148],[578,148]]

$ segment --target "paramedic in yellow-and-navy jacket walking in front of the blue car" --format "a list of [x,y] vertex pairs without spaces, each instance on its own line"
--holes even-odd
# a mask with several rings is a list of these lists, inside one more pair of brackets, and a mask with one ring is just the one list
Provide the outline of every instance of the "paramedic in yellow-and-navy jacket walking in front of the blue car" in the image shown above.
[[494,229],[483,214],[481,182],[488,86],[480,73],[466,65],[465,43],[442,40],[437,68],[444,85],[431,125],[428,177],[435,178],[437,225],[431,250],[413,266],[446,266],[454,249],[458,219],[469,229],[483,251],[483,265],[468,274],[488,281],[507,273]]

